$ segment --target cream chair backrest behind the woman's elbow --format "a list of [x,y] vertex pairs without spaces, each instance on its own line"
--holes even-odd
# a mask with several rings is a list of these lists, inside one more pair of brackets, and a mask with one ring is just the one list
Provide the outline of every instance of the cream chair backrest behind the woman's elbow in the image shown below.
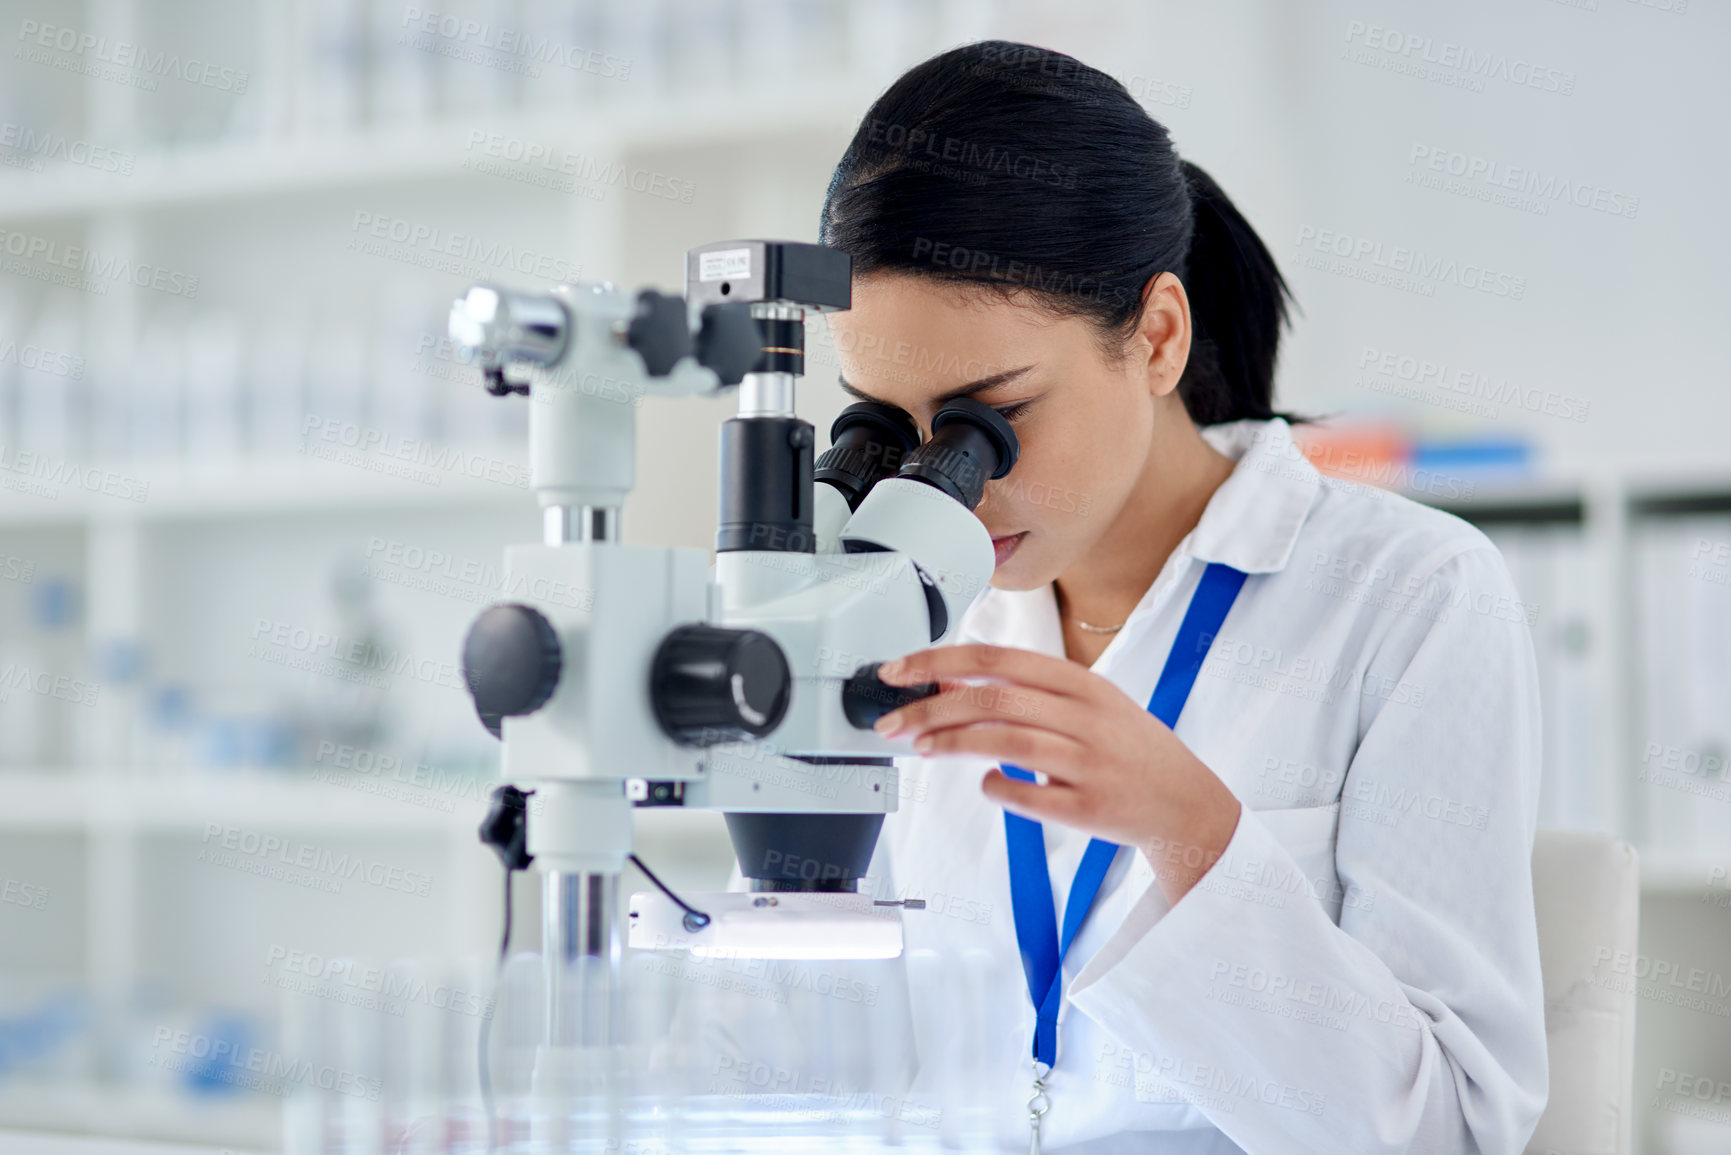
[[[1541,829],[1532,895],[1544,970],[1551,1100],[1527,1155],[1627,1155],[1634,1117],[1636,985],[1641,914],[1634,847],[1610,835]],[[1618,952],[1627,963],[1613,965]]]

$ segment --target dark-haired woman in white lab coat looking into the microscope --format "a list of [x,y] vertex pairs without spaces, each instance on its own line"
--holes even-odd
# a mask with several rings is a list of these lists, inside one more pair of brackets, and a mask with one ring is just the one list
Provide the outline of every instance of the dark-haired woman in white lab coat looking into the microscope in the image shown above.
[[1532,642],[1482,533],[1293,448],[1250,223],[1120,83],[992,42],[872,106],[822,239],[845,388],[923,433],[966,393],[1021,440],[978,507],[992,589],[885,674],[945,689],[879,726],[923,755],[893,887],[943,895],[911,949],[994,959],[999,1141],[1522,1150]]

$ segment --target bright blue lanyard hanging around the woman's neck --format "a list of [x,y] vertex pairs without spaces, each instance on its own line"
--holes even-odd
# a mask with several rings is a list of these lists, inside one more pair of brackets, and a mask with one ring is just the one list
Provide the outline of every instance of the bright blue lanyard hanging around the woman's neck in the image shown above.
[[[1203,570],[1191,604],[1184,611],[1172,653],[1160,670],[1155,696],[1148,712],[1177,726],[1184,701],[1189,698],[1203,658],[1213,646],[1220,623],[1226,622],[1245,573],[1219,561]],[[1020,765],[1002,765],[1007,778],[1032,783],[1033,774]],[[1033,1001],[1033,1058],[1047,1067],[1058,1060],[1058,1008],[1063,1003],[1063,963],[1070,942],[1082,928],[1099,885],[1106,880],[1118,843],[1094,838],[1082,854],[1082,864],[1070,883],[1070,900],[1065,902],[1065,937],[1058,939],[1058,911],[1052,907],[1052,876],[1046,864],[1046,831],[1033,819],[1004,812],[1004,842],[1009,849],[1009,897],[1016,918],[1016,945],[1021,949],[1021,970],[1028,977],[1028,997]]]

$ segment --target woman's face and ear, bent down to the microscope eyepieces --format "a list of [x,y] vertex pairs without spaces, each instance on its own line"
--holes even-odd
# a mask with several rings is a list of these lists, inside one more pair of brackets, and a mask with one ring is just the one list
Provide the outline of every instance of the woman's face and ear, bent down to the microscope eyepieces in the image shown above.
[[[987,483],[975,511],[997,551],[992,585],[1037,589],[1085,556],[1136,488],[1158,423],[1174,407],[1182,416],[1172,388],[1182,355],[1174,369],[1165,320],[1148,324],[1158,296],[1160,282],[1122,358],[1108,358],[1080,317],[907,274],[855,281],[853,308],[829,317],[843,388],[907,410],[921,438],[957,393],[1014,428],[1016,468]],[[1182,289],[1177,296],[1187,352]]]

